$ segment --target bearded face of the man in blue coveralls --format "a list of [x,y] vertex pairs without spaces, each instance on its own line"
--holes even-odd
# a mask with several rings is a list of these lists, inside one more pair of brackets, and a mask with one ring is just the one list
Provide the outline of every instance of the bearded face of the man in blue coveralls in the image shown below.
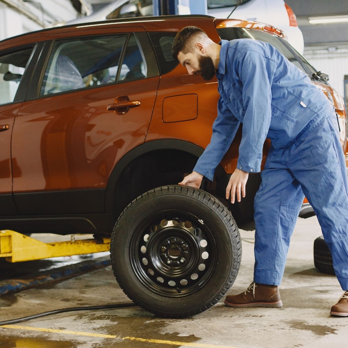
[[200,75],[206,81],[211,80],[215,75],[214,63],[209,56],[198,53],[183,54],[179,52],[177,59],[185,66],[190,75]]

